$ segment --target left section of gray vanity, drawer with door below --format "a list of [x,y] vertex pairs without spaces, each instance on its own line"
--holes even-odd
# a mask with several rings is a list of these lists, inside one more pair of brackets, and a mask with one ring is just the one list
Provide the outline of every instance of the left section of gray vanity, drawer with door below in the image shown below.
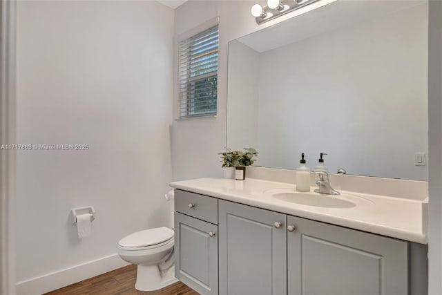
[[218,199],[175,191],[175,200],[175,277],[200,294],[216,295],[218,225],[209,221],[218,223]]

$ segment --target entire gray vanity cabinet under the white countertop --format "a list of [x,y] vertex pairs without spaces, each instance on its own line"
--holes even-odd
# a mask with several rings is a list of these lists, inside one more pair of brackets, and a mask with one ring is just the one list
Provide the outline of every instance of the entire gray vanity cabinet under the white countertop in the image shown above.
[[427,294],[426,245],[183,192],[175,276],[200,294]]

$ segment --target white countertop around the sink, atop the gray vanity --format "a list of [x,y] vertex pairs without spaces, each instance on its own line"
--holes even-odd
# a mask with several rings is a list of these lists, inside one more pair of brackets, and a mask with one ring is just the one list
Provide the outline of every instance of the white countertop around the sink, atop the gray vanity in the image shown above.
[[[270,192],[278,189],[295,190],[294,184],[248,178],[244,181],[224,178],[199,178],[171,182],[171,187],[230,200],[262,209],[269,209],[302,218],[340,225],[374,234],[427,243],[427,233],[423,232],[423,202],[367,193],[340,191],[341,198],[356,204],[347,208],[314,207],[305,204],[278,200]],[[311,195],[319,195],[313,192]],[[347,196],[345,196],[347,195]]]

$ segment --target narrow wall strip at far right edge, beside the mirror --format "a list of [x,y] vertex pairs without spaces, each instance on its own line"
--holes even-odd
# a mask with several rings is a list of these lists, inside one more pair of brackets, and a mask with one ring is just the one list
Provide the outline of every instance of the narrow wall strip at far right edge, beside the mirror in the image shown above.
[[431,0],[428,15],[428,294],[442,294],[442,1]]

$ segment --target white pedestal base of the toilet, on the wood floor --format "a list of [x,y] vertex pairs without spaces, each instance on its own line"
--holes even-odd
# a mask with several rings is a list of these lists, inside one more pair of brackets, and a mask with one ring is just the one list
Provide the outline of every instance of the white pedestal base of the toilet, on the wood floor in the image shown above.
[[175,266],[161,275],[158,265],[138,265],[135,289],[139,291],[155,291],[177,281],[177,278],[175,278]]

